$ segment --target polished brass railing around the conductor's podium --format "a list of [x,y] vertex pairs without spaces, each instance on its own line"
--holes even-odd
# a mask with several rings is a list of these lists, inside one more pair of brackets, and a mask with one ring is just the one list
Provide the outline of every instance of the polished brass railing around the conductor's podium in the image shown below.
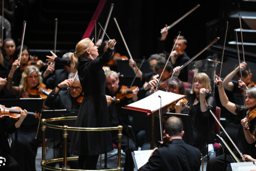
[[[52,122],[52,121],[59,121],[59,120],[73,120],[76,119],[76,116],[72,117],[58,117],[58,118],[50,118],[50,119],[42,119],[42,161],[41,161],[41,167],[42,171],[45,171],[45,168],[50,169],[50,170],[68,170],[68,171],[75,171],[75,170],[80,170],[81,169],[68,169],[67,168],[67,161],[69,160],[77,160],[78,157],[67,157],[67,139],[68,139],[68,131],[112,131],[112,130],[118,130],[118,145],[117,145],[117,168],[115,169],[102,169],[102,170],[109,170],[109,171],[121,171],[121,138],[122,138],[122,129],[123,126],[119,125],[117,127],[96,127],[96,128],[90,128],[90,127],[69,127],[67,125],[59,126],[59,125],[54,125],[54,124],[49,124],[47,122]],[[58,130],[63,130],[63,158],[58,158],[58,159],[52,159],[52,160],[45,160],[45,154],[46,154],[46,149],[45,149],[45,131],[46,127],[50,127],[52,129],[58,129]],[[63,167],[58,168],[58,167],[52,167],[48,166],[48,163],[54,163],[54,162],[60,162],[63,161]]]

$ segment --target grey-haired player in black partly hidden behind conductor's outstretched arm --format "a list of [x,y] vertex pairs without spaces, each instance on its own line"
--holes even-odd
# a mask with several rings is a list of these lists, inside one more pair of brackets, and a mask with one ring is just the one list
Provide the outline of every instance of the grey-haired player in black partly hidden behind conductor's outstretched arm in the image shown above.
[[[72,52],[67,52],[62,56],[62,59],[67,59],[71,61]],[[54,69],[54,63],[50,62],[46,71],[43,74],[44,83],[48,89],[54,89],[58,83],[68,78],[71,73],[70,67],[64,66],[64,69]]]

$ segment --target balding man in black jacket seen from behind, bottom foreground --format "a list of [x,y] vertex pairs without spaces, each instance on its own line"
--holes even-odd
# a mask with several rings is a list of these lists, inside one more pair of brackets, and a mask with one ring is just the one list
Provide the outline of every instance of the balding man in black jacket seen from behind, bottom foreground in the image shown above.
[[186,144],[182,140],[184,135],[183,123],[180,118],[172,116],[165,122],[164,134],[169,138],[169,144],[155,148],[150,159],[139,170],[191,170],[197,171],[201,165],[199,149]]

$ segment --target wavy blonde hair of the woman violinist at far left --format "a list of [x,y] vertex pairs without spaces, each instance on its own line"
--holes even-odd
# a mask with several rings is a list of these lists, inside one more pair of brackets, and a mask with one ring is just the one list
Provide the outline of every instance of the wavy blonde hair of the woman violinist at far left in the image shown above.
[[36,66],[28,66],[25,68],[25,70],[22,73],[22,79],[20,81],[19,88],[24,89],[24,90],[26,90],[28,88],[28,82],[27,82],[28,76],[30,74],[32,74],[32,72],[34,72],[34,71],[37,73],[38,83],[39,84],[42,83],[41,73],[38,70],[38,68]]

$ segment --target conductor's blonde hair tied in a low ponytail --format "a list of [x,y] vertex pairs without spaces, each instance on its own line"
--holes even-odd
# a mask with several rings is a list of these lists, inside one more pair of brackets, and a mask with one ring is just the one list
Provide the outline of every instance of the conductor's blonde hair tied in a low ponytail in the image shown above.
[[71,56],[71,70],[75,71],[78,67],[78,58],[87,57],[88,54],[86,50],[90,50],[90,38],[84,38],[78,42],[76,45],[76,51]]

